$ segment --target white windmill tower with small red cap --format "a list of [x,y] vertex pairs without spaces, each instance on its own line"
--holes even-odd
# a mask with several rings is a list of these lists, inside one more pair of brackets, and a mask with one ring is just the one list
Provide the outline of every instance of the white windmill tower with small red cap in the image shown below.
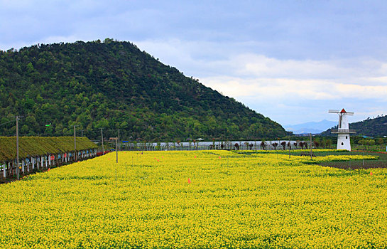
[[337,113],[339,115],[339,125],[337,129],[332,129],[332,133],[337,133],[337,149],[347,149],[351,151],[351,140],[349,134],[356,133],[353,129],[349,129],[347,116],[353,116],[354,112],[346,112],[343,110],[329,110],[329,113]]

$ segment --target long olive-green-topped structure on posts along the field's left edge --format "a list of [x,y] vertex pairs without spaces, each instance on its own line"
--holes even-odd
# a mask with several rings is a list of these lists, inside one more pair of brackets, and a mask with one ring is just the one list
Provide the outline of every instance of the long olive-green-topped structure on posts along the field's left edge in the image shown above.
[[[0,179],[14,179],[36,171],[97,156],[97,145],[87,137],[0,137]],[[19,164],[18,162],[19,161]]]

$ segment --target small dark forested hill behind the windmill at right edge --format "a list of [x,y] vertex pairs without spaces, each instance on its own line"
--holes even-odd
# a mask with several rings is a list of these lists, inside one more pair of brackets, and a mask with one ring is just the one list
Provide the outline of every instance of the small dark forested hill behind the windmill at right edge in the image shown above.
[[[354,129],[356,135],[365,135],[369,137],[387,136],[387,116],[382,115],[381,117],[368,118],[367,120],[351,123],[349,124],[349,129]],[[327,131],[322,132],[322,135],[330,136],[331,129],[327,129]]]

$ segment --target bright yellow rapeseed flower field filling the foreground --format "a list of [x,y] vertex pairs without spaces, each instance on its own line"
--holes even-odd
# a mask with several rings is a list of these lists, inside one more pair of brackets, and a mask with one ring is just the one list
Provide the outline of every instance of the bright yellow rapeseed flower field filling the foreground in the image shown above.
[[119,152],[0,186],[1,248],[386,248],[387,169]]

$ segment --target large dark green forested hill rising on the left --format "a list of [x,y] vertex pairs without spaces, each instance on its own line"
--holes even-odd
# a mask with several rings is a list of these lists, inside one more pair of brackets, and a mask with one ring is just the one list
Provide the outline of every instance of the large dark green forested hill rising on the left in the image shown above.
[[[40,44],[0,51],[0,124],[21,135],[146,141],[283,137],[280,124],[185,77],[129,42]],[[47,125],[47,126],[46,126]],[[15,134],[15,123],[0,135]]]

